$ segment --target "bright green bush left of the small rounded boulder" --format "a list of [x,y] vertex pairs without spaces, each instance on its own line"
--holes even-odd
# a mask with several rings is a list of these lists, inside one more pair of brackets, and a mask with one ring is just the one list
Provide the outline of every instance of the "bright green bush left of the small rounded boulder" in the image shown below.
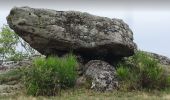
[[71,54],[63,58],[37,58],[24,74],[27,93],[51,96],[56,95],[60,89],[73,87],[77,65],[75,56]]

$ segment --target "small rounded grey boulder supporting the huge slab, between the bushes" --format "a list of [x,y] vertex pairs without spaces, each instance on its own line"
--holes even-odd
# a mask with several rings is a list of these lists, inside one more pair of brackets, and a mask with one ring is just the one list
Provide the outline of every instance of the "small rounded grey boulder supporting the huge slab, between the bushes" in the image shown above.
[[91,88],[97,91],[112,91],[118,86],[116,70],[107,62],[91,60],[85,67],[85,76],[91,80]]

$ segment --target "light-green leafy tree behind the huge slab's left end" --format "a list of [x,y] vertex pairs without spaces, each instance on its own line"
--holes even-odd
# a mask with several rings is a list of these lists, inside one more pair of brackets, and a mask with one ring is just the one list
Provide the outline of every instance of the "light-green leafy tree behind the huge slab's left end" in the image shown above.
[[[18,50],[21,47],[24,51]],[[19,61],[24,57],[29,57],[37,52],[20,38],[7,25],[4,25],[0,31],[0,60]]]

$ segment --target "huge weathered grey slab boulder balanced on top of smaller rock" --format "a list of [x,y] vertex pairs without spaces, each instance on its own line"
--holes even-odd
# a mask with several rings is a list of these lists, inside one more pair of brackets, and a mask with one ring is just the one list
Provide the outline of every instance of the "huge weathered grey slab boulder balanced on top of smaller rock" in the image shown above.
[[129,26],[120,19],[78,11],[14,7],[9,26],[45,55],[74,54],[91,57],[133,55],[136,45]]

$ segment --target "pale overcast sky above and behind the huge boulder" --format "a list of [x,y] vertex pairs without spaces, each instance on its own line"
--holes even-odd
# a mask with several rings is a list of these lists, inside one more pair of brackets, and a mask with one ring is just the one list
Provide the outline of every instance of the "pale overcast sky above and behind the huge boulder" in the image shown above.
[[134,33],[138,48],[170,57],[170,2],[168,0],[0,0],[0,27],[14,6],[76,10],[121,18]]

